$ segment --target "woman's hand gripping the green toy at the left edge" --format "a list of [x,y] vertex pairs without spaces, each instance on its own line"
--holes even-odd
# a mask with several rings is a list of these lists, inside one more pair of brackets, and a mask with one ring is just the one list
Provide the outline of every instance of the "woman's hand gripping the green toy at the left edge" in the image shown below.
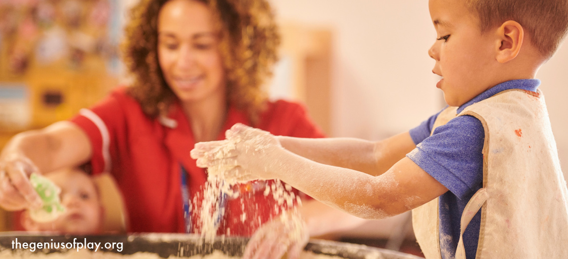
[[0,156],[0,207],[7,211],[39,208],[43,204],[30,182],[36,166],[23,154]]

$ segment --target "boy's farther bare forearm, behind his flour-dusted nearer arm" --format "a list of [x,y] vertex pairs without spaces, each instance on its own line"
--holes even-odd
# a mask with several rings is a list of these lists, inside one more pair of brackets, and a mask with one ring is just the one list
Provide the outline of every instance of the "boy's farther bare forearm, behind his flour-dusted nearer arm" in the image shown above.
[[373,142],[354,138],[303,139],[277,136],[283,148],[321,164],[349,168],[371,176],[385,173],[416,147],[409,132]]

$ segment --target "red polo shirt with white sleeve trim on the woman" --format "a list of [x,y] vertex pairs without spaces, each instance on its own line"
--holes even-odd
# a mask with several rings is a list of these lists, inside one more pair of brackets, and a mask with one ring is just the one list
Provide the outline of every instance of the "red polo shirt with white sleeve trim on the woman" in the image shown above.
[[[126,203],[130,232],[185,232],[179,165],[187,170],[190,200],[201,203],[207,175],[195,165],[190,151],[195,141],[190,123],[179,105],[169,119],[152,119],[120,87],[89,110],[71,119],[91,141],[93,173],[110,172]],[[229,107],[224,132],[235,123],[250,125],[247,116]],[[298,103],[270,102],[257,128],[274,135],[323,137],[323,133]],[[264,191],[264,189],[263,189]],[[197,198],[195,198],[197,196]],[[262,191],[228,200],[219,234],[250,236],[258,225],[276,214],[272,195]],[[193,208],[192,219],[197,209]],[[241,218],[243,212],[246,219]],[[193,229],[196,229],[193,220]],[[226,231],[230,229],[230,231]]]

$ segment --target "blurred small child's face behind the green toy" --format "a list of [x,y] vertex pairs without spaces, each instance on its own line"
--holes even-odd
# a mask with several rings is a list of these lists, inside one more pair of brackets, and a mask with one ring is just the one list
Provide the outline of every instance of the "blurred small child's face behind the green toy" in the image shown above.
[[100,233],[103,207],[93,179],[80,169],[64,169],[45,177],[61,188],[61,205],[65,210],[51,222],[36,222],[30,216],[30,211],[24,211],[23,227],[27,231],[74,235]]

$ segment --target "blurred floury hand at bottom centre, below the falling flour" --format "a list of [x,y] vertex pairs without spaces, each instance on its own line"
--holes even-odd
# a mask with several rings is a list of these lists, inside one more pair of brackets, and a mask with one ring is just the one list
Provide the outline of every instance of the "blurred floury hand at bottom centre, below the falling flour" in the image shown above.
[[297,212],[285,213],[260,227],[250,238],[243,254],[245,259],[299,258],[310,235]]

